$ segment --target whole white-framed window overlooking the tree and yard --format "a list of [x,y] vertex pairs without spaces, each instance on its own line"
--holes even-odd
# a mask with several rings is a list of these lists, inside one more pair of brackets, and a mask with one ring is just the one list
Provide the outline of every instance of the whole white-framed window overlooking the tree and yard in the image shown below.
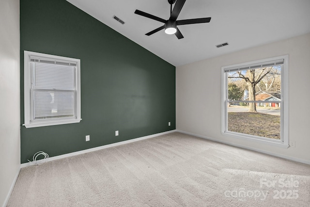
[[222,67],[222,133],[288,147],[288,55]]

